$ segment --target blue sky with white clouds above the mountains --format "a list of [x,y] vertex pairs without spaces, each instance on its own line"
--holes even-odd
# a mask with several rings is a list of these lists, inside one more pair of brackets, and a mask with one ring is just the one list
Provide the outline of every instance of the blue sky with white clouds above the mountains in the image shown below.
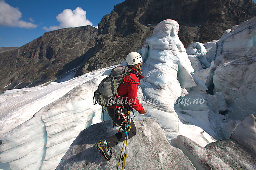
[[20,47],[59,28],[96,27],[123,1],[0,0],[0,47]]

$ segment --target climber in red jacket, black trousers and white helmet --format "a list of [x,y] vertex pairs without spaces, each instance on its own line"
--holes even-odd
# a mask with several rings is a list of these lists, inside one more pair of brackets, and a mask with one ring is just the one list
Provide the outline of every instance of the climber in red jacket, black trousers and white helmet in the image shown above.
[[[140,114],[145,114],[146,111],[140,104],[137,98],[137,90],[139,86],[139,79],[142,79],[144,76],[141,75],[141,66],[142,66],[142,57],[137,52],[130,52],[126,57],[127,67],[132,68],[132,71],[123,78],[123,83],[117,88],[119,96],[124,96],[123,98],[128,101],[128,104],[122,107],[114,108],[117,106],[108,107],[108,115],[111,117],[113,122],[119,125],[123,130],[125,130],[125,124],[123,124],[123,119],[120,118],[120,112],[123,112],[126,115],[127,119],[130,121],[130,131],[128,139],[136,135],[136,127],[133,123],[133,119],[130,117],[129,108],[133,107]],[[119,116],[118,116],[119,115]],[[119,117],[119,118],[118,118]],[[109,160],[112,156],[111,148],[118,144],[118,142],[123,142],[125,140],[125,131],[118,132],[113,136],[109,136],[106,139],[99,141],[96,144],[96,147],[101,151],[101,154]]]

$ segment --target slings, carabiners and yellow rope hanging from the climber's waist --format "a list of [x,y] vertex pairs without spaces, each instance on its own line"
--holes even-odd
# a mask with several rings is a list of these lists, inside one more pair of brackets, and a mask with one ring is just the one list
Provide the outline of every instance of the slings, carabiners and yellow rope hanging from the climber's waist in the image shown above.
[[[128,132],[131,130],[131,115],[130,115],[129,107],[127,107],[127,113],[128,113],[128,118],[122,112],[122,108],[121,107],[118,108],[118,116],[120,115],[123,118],[123,123],[121,124],[121,126],[120,126],[120,128],[118,130],[118,133],[120,132],[120,129],[123,126],[123,124],[125,124],[125,128],[124,128],[125,139],[124,139],[124,142],[123,142],[123,147],[124,147],[125,143],[126,143],[126,145],[125,145],[125,150],[124,150],[124,154],[123,155],[122,155],[122,153],[123,153],[123,148],[122,148],[122,151],[121,151],[121,154],[120,154],[120,157],[119,157],[119,161],[118,161],[118,164],[117,164],[117,170],[118,170],[118,167],[119,167],[120,160],[123,161],[123,163],[122,163],[122,170],[124,170],[125,159],[127,157],[126,147],[127,147],[127,140],[128,140]],[[121,157],[122,157],[122,159],[121,159]]]

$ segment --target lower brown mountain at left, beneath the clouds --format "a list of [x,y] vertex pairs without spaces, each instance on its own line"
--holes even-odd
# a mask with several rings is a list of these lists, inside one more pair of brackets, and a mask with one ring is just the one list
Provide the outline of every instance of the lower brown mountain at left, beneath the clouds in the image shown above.
[[64,28],[1,53],[0,91],[14,88],[20,82],[23,83],[17,88],[51,81],[86,62],[92,56],[96,36],[97,28],[92,26]]

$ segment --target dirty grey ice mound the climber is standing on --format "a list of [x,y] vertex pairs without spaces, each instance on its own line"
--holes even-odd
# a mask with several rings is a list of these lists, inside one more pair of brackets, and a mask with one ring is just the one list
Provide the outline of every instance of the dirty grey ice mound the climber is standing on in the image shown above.
[[[123,142],[112,149],[107,161],[95,148],[95,143],[117,132],[111,121],[94,124],[83,130],[62,158],[56,170],[66,169],[117,169]],[[137,134],[128,140],[125,169],[195,169],[183,152],[170,145],[157,121],[151,118],[134,120]],[[104,133],[102,133],[104,132]],[[128,134],[129,135],[129,134]],[[124,151],[123,151],[124,153]],[[122,161],[119,169],[122,169]]]

